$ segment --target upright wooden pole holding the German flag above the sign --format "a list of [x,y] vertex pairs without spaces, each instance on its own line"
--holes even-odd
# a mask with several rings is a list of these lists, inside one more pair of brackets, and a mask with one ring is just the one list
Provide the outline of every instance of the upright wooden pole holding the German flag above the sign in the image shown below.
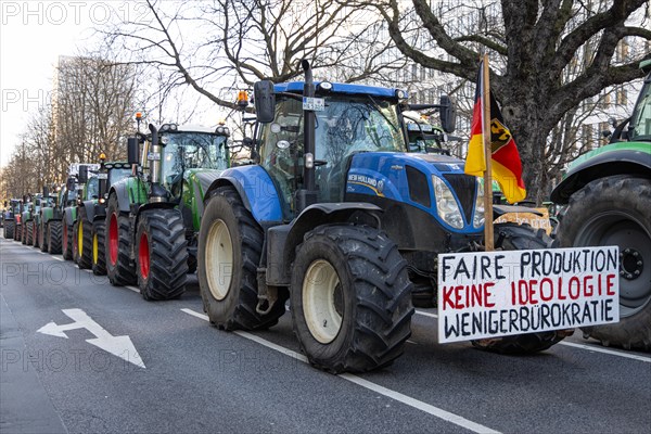
[[486,162],[486,169],[484,170],[484,245],[486,252],[495,250],[495,237],[493,232],[493,152],[490,148],[490,82],[489,79],[489,67],[488,67],[488,54],[484,54],[483,65],[483,82],[484,88],[482,89],[483,100],[483,140],[484,140],[484,161]]

